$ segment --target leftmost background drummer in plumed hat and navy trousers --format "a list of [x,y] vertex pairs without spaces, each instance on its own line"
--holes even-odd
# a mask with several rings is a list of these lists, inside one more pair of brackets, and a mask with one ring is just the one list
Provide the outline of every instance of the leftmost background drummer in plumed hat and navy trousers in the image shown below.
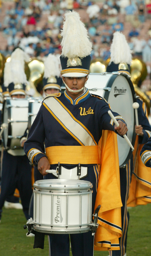
[[[5,63],[4,87],[12,98],[25,98],[25,84],[27,82],[24,73],[24,60],[28,56],[19,48],[11,55],[10,62]],[[18,123],[19,125],[19,123]],[[26,130],[26,127],[25,127]],[[21,204],[26,219],[29,219],[29,204],[32,196],[31,165],[21,149],[8,149],[3,152],[2,179],[0,194],[0,219],[4,201],[9,195],[13,195],[18,188]]]

